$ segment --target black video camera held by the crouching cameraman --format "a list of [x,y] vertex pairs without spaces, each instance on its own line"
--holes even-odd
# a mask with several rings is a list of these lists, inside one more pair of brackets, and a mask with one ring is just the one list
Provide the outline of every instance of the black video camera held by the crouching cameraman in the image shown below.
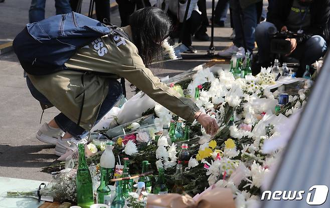
[[287,32],[278,32],[275,28],[269,28],[268,34],[271,38],[270,52],[275,54],[289,54],[291,51],[291,43],[287,38],[298,38],[302,34]]

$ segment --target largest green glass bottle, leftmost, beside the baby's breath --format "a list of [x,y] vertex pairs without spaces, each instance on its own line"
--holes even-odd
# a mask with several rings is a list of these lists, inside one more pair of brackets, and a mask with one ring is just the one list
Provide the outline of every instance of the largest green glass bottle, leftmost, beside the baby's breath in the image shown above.
[[82,208],[89,208],[94,204],[93,182],[90,175],[86,159],[84,144],[78,145],[79,165],[77,170],[77,203]]

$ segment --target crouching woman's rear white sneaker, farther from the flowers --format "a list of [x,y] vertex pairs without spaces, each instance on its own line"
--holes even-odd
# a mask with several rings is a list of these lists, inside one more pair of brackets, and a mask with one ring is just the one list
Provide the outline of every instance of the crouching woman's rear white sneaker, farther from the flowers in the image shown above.
[[64,135],[61,129],[49,127],[47,123],[43,124],[37,132],[37,139],[47,144],[56,145],[57,140]]

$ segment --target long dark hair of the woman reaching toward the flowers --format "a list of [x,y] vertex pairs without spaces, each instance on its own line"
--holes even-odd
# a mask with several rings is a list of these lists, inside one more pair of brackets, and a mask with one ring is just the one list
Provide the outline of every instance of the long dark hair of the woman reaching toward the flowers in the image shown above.
[[172,23],[169,16],[155,7],[146,7],[134,12],[129,17],[133,42],[138,49],[144,65],[159,58],[161,43],[171,31]]

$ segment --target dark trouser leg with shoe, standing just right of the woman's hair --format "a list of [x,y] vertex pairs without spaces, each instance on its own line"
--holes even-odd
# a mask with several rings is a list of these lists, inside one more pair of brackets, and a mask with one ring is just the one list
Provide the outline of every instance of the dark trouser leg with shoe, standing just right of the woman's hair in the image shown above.
[[197,50],[192,46],[192,36],[200,29],[201,25],[202,16],[194,10],[191,17],[186,21],[184,37],[182,39],[182,43],[189,48],[185,53],[197,53]]

